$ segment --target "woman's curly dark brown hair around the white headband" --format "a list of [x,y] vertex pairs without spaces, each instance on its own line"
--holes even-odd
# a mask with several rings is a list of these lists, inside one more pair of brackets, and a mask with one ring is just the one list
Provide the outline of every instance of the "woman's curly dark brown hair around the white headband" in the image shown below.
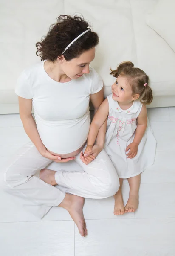
[[[89,23],[83,17],[60,15],[57,23],[50,26],[48,34],[40,42],[37,42],[37,56],[40,56],[41,60],[55,61],[62,55],[65,47],[88,26]],[[70,61],[77,58],[82,52],[95,47],[98,43],[99,36],[95,32],[88,31],[65,51],[65,60]]]

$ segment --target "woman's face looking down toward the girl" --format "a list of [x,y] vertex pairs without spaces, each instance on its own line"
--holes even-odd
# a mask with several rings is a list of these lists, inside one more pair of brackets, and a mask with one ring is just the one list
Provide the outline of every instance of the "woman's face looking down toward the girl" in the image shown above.
[[83,52],[78,58],[71,61],[62,61],[62,71],[71,79],[78,79],[83,74],[89,73],[89,64],[95,58],[95,47]]

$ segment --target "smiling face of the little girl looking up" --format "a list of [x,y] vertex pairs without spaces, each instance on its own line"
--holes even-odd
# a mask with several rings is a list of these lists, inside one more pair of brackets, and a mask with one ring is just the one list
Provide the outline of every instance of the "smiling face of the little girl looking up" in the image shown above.
[[121,103],[127,104],[135,99],[127,78],[121,75],[118,76],[116,82],[112,85],[112,93],[113,99]]

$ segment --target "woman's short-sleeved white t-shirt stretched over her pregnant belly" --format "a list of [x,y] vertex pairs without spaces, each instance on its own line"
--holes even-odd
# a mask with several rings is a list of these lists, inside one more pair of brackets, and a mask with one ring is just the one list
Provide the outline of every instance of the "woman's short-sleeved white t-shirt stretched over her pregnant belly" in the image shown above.
[[96,71],[66,83],[56,82],[44,70],[44,62],[24,70],[15,93],[32,99],[37,130],[45,147],[57,154],[79,149],[90,127],[90,94],[99,92],[103,82]]

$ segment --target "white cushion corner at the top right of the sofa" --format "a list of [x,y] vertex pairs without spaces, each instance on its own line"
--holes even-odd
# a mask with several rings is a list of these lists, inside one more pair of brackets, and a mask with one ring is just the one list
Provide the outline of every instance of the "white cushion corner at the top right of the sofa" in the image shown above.
[[160,0],[147,15],[147,24],[158,33],[175,52],[175,1]]

